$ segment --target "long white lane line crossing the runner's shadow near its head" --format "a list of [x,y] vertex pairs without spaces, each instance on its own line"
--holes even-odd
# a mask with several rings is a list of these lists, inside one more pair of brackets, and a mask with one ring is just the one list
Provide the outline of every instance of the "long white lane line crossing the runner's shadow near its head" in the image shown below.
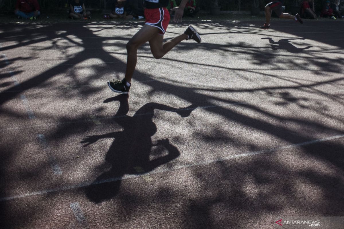
[[343,135],[335,135],[335,136],[331,136],[331,137],[327,137],[327,138],[315,139],[315,140],[312,140],[312,141],[305,141],[305,142],[301,142],[301,143],[297,143],[297,144],[291,144],[291,145],[276,147],[276,148],[267,149],[267,150],[254,151],[254,152],[248,152],[248,153],[240,153],[240,154],[232,155],[232,156],[229,156],[229,157],[217,158],[215,160],[207,160],[207,161],[193,163],[193,164],[180,165],[180,166],[177,166],[177,167],[174,167],[174,168],[171,168],[171,169],[152,171],[152,172],[145,173],[145,174],[124,175],[122,177],[110,178],[110,179],[106,179],[106,180],[96,181],[96,182],[93,182],[93,183],[80,183],[80,184],[76,184],[76,185],[64,186],[64,187],[55,188],[55,189],[42,190],[42,191],[37,191],[37,192],[32,192],[32,193],[26,193],[26,194],[23,194],[23,195],[2,197],[2,198],[0,198],[0,202],[9,201],[11,199],[25,198],[25,197],[29,197],[29,196],[44,195],[44,194],[52,193],[52,192],[67,191],[67,190],[71,190],[71,189],[75,189],[75,188],[82,188],[82,187],[87,187],[87,186],[91,186],[91,185],[97,185],[97,184],[103,184],[103,183],[118,181],[118,180],[125,180],[125,179],[130,179],[130,178],[136,178],[136,177],[146,176],[146,175],[150,175],[150,174],[158,174],[158,173],[170,172],[170,171],[180,170],[180,169],[183,169],[183,168],[194,167],[194,166],[197,166],[197,165],[206,165],[206,164],[210,164],[210,163],[214,163],[214,162],[221,162],[221,161],[226,161],[226,160],[230,160],[230,159],[254,156],[254,155],[263,154],[263,153],[272,153],[272,152],[275,152],[275,151],[281,150],[281,149],[289,149],[289,148],[295,148],[295,147],[300,147],[300,146],[312,145],[312,144],[316,144],[316,143],[319,143],[319,142],[330,141],[330,140],[334,140],[334,139],[338,139],[338,138],[343,138],[343,137],[344,137],[344,134]]

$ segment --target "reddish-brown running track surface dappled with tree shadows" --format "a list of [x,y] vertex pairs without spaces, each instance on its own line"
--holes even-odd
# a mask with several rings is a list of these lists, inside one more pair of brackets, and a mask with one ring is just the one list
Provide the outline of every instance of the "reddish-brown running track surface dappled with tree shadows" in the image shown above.
[[1,24],[1,228],[344,216],[344,21],[193,24],[129,97],[106,82],[142,23]]

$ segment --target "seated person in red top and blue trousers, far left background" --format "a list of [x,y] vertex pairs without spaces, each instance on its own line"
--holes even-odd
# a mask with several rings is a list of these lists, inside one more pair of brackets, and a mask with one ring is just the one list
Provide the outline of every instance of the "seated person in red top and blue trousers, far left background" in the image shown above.
[[18,18],[36,19],[41,14],[37,0],[17,0],[14,14]]

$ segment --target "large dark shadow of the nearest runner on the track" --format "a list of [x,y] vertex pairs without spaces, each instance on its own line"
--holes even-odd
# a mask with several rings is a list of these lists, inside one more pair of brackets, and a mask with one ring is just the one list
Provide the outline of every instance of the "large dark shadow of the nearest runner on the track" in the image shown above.
[[[175,112],[181,117],[187,117],[197,108],[191,105],[176,109],[151,102],[143,105],[131,117],[127,115],[129,111],[128,97],[128,95],[118,95],[104,101],[104,103],[120,102],[114,121],[123,128],[122,131],[88,136],[81,141],[85,147],[102,138],[114,138],[105,157],[105,161],[111,165],[111,169],[102,173],[87,187],[87,197],[96,203],[116,196],[123,175],[148,173],[179,157],[179,150],[170,144],[169,139],[160,139],[157,144],[152,143],[151,137],[157,132],[157,126],[152,120],[154,110]],[[157,146],[158,151],[154,151],[155,158],[150,160],[153,146]],[[162,156],[163,148],[168,153]]]

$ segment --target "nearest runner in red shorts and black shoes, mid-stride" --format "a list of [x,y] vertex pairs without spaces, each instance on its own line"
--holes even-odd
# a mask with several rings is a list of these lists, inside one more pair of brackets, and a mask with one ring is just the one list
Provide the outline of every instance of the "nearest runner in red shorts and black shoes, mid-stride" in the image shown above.
[[[174,22],[182,19],[185,4],[188,0],[182,0],[179,7],[171,9],[175,12]],[[127,43],[127,69],[124,79],[121,81],[109,81],[108,86],[114,92],[128,94],[131,87],[131,78],[137,63],[137,49],[149,42],[154,58],[163,57],[174,46],[184,40],[194,40],[201,43],[201,37],[192,25],[189,25],[184,33],[163,43],[164,34],[170,21],[170,13],[166,9],[169,0],[145,0],[144,16],[146,24]]]

